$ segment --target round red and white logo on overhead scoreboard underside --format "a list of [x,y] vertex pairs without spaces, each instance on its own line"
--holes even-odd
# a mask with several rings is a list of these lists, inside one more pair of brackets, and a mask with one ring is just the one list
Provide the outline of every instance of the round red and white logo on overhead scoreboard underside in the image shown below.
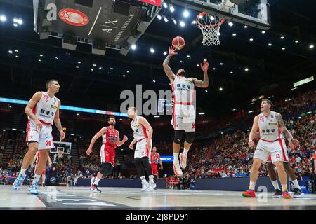
[[62,8],[58,15],[60,20],[72,26],[82,27],[89,23],[89,18],[86,14],[72,8]]

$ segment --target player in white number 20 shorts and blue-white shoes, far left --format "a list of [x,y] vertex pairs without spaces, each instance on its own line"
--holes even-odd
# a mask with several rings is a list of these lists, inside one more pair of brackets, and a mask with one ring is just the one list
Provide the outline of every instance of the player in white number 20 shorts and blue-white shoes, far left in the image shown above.
[[40,156],[31,186],[31,193],[34,195],[39,194],[37,190],[39,178],[46,166],[49,150],[54,148],[53,136],[51,134],[51,125],[53,123],[55,123],[59,131],[60,139],[65,139],[65,132],[62,130],[59,118],[60,100],[55,97],[55,94],[60,89],[58,80],[47,80],[46,88],[47,92],[36,92],[25,107],[25,113],[29,118],[27,137],[25,139],[28,144],[28,151],[23,158],[20,174],[13,183],[13,190],[20,190],[25,179],[25,171],[32,164],[34,155],[38,150]]

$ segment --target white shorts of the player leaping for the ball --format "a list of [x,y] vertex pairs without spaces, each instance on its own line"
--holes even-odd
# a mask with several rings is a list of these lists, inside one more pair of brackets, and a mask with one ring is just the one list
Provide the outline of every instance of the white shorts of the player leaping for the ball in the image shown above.
[[174,130],[195,132],[195,107],[193,105],[173,104],[171,125]]

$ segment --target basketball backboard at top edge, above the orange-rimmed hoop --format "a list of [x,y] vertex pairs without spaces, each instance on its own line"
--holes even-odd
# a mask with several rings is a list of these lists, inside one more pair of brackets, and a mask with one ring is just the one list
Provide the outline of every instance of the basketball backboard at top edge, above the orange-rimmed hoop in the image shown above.
[[270,5],[267,0],[171,0],[171,3],[193,10],[225,17],[260,29],[270,29]]

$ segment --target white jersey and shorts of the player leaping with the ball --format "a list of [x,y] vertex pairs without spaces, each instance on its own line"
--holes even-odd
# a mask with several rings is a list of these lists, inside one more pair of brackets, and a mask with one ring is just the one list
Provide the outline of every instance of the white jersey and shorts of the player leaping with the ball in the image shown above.
[[192,78],[176,76],[171,88],[174,100],[171,124],[174,130],[195,132],[195,84]]

